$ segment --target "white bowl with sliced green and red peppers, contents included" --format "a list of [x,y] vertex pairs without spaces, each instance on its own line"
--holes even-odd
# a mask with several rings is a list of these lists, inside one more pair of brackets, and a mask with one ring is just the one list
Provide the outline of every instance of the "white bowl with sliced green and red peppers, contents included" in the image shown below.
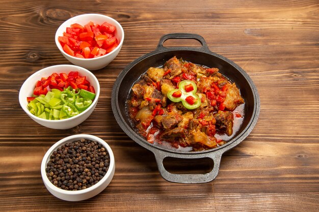
[[100,94],[97,78],[73,65],[50,66],[24,81],[19,92],[22,109],[38,124],[70,129],[93,112]]

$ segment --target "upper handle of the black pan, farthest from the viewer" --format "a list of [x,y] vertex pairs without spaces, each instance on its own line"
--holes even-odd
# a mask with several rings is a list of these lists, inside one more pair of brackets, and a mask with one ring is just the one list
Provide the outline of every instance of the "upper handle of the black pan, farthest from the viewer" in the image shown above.
[[[158,41],[158,45],[157,45],[157,49],[167,49],[167,47],[164,47],[164,42],[169,40],[169,39],[194,39],[197,40],[198,42],[200,42],[200,44],[202,45],[199,49],[203,50],[203,51],[209,51],[208,45],[205,41],[205,39],[197,34],[190,34],[190,33],[172,33],[172,34],[166,34],[164,36],[162,36],[161,39],[159,39]],[[172,47],[169,47],[172,48]],[[173,47],[174,48],[174,47]],[[179,47],[180,48],[180,47]],[[186,48],[190,48],[190,47],[186,47]],[[198,48],[195,48],[198,49]]]

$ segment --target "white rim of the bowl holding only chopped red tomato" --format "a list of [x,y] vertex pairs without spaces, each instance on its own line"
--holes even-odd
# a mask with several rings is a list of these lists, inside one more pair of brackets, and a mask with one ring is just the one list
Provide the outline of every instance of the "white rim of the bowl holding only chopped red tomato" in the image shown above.
[[[76,18],[78,18],[78,17],[80,17],[80,16],[88,16],[88,15],[100,16],[100,17],[107,17],[107,18],[110,18],[110,19],[112,19],[113,21],[115,21],[115,22],[119,25],[119,27],[120,27],[120,29],[121,29],[122,39],[121,39],[119,45],[118,45],[115,49],[113,49],[111,52],[109,52],[109,53],[107,53],[107,54],[105,54],[105,55],[103,55],[103,56],[99,56],[99,57],[95,57],[95,58],[79,58],[79,57],[76,57],[76,56],[71,56],[70,54],[67,54],[67,53],[63,50],[63,48],[62,48],[62,46],[61,46],[61,44],[60,44],[60,42],[59,42],[59,40],[58,40],[59,36],[62,36],[62,35],[58,35],[58,31],[59,31],[59,29],[62,28],[62,26],[65,25],[67,22],[72,22],[72,20],[74,20],[74,19],[76,19]],[[70,25],[71,25],[71,24],[72,24],[72,23],[70,23]],[[69,27],[69,26],[66,26],[66,27]],[[65,29],[66,29],[66,27],[63,26],[63,28],[65,28]],[[65,31],[65,29],[64,29],[64,31]],[[118,28],[116,27],[116,29],[118,29]],[[63,32],[64,32],[64,31],[63,31]],[[111,55],[111,54],[113,54],[117,49],[121,48],[121,46],[122,46],[122,44],[123,44],[123,41],[124,41],[124,29],[123,29],[122,25],[121,25],[117,20],[115,20],[114,18],[112,18],[112,17],[110,17],[110,16],[102,15],[102,14],[97,14],[97,13],[87,13],[87,14],[82,14],[82,15],[74,16],[74,17],[69,18],[68,20],[64,21],[64,22],[59,26],[59,28],[58,28],[57,31],[56,31],[55,41],[56,41],[57,47],[59,48],[59,50],[60,50],[64,55],[70,56],[70,57],[75,58],[75,59],[83,60],[83,61],[92,61],[92,60],[100,59],[100,58],[103,58],[103,57],[105,57],[105,56]]]

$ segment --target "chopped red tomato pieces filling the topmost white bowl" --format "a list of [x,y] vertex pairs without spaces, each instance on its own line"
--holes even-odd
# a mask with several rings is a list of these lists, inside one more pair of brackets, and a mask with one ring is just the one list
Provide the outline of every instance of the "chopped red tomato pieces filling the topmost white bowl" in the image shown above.
[[119,45],[115,31],[116,27],[108,22],[99,25],[90,21],[84,26],[74,23],[66,28],[58,40],[67,54],[78,58],[94,58],[110,53]]

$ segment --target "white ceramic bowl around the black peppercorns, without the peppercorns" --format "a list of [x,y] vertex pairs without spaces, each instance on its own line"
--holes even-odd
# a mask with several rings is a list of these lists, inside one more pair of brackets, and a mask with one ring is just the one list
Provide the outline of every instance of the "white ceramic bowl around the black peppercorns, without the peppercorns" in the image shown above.
[[[83,190],[78,190],[78,191],[67,191],[60,189],[53,185],[50,180],[46,176],[46,164],[50,160],[50,156],[52,153],[57,150],[58,147],[62,146],[65,143],[70,143],[75,140],[80,140],[82,138],[92,140],[92,141],[97,141],[100,144],[102,144],[105,149],[107,149],[109,155],[110,155],[110,166],[107,171],[107,174],[103,176],[100,181],[98,181],[97,184],[93,185],[92,187],[89,187],[87,189]],[[110,184],[115,172],[115,160],[114,160],[114,155],[112,152],[111,147],[102,139],[99,137],[93,136],[93,135],[87,135],[87,134],[78,134],[78,135],[71,135],[69,137],[63,138],[62,140],[58,141],[54,145],[52,145],[49,150],[47,150],[46,154],[43,157],[42,163],[41,163],[41,175],[42,175],[42,180],[47,188],[47,190],[54,196],[67,200],[67,201],[81,201],[85,199],[89,199],[97,194],[99,194],[101,191],[103,191],[107,186]]]

